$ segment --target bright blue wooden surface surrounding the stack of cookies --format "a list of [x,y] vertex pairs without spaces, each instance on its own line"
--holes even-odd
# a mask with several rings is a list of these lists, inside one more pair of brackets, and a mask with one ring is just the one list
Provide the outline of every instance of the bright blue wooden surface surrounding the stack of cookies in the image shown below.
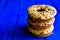
[[[48,4],[57,9],[54,34],[37,38],[27,30],[27,8]],[[0,40],[60,40],[60,0],[0,0]]]

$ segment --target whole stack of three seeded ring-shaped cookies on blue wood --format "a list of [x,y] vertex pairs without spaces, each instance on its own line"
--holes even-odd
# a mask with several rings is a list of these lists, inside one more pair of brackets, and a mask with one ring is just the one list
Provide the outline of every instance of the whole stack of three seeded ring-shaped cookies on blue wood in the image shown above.
[[54,29],[56,9],[50,5],[33,5],[28,8],[28,29],[37,37],[47,37]]

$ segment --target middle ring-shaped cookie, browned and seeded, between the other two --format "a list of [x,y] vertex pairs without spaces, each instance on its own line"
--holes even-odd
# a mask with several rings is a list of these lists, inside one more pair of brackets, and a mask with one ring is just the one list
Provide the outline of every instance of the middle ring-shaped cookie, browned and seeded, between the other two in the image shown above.
[[54,23],[54,21],[55,21],[55,18],[52,18],[52,19],[49,19],[49,20],[40,20],[40,21],[32,21],[31,19],[29,19],[28,18],[28,22],[29,22],[29,24],[30,25],[32,25],[32,26],[36,26],[36,27],[39,27],[39,26],[42,26],[42,27],[47,27],[47,26],[50,26],[50,25],[52,25],[53,23]]

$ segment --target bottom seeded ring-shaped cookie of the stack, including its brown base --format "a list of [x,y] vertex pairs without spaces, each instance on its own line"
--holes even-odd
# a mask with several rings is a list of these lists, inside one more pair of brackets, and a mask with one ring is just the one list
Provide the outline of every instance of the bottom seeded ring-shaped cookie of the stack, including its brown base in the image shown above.
[[43,29],[43,30],[34,30],[32,27],[28,27],[28,29],[34,36],[37,36],[37,37],[47,37],[50,34],[52,34],[54,26],[51,25],[49,28]]

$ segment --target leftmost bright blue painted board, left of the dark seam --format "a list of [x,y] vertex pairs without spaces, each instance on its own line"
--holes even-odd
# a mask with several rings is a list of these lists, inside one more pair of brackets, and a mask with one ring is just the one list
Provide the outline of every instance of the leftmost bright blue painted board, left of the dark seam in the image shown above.
[[13,40],[20,0],[0,0],[0,40]]

